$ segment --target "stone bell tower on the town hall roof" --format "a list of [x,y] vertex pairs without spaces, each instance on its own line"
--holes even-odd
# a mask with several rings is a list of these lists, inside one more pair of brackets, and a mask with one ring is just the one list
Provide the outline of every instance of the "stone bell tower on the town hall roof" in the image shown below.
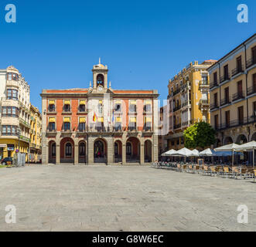
[[108,90],[108,66],[101,64],[100,58],[99,63],[94,65],[92,72],[94,76],[94,91],[97,90],[97,92],[104,93],[106,90]]

